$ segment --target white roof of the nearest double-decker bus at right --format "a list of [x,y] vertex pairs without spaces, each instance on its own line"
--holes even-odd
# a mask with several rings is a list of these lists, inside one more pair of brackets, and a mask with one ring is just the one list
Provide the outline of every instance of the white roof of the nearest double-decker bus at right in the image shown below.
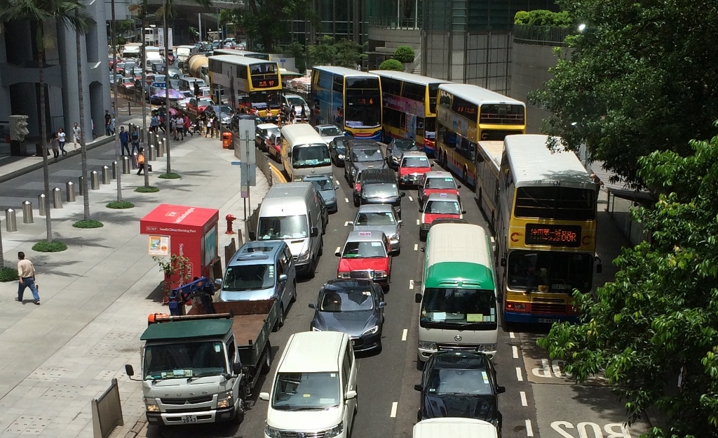
[[551,151],[548,140],[549,136],[539,134],[507,135],[503,140],[516,187],[560,185],[597,190],[576,154]]

